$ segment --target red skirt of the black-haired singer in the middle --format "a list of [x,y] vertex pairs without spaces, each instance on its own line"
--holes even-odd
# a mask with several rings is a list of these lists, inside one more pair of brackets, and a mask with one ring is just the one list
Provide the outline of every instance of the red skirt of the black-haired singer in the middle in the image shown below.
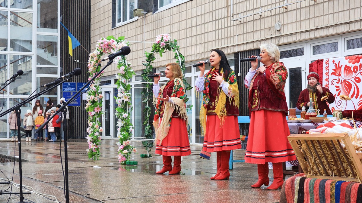
[[202,150],[217,152],[241,148],[239,122],[237,116],[226,116],[224,125],[220,127],[217,115],[206,118],[206,132]]

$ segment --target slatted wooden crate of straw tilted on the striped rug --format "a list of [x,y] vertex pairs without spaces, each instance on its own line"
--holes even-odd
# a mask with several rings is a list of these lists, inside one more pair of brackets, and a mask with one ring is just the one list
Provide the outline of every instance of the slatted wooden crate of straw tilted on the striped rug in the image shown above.
[[361,159],[347,133],[294,134],[288,140],[308,178],[361,182]]

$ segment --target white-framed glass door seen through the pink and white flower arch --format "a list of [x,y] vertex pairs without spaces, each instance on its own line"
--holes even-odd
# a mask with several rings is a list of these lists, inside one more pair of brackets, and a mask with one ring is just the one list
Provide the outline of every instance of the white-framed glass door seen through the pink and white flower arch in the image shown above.
[[102,138],[113,138],[113,94],[112,88],[102,88],[103,104],[102,104]]

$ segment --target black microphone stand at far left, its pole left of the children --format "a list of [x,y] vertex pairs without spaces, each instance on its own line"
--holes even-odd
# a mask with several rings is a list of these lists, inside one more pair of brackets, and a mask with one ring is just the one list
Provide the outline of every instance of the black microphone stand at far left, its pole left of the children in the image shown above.
[[[40,95],[42,95],[42,94],[45,94],[47,91],[52,90],[53,88],[57,87],[58,85],[60,85],[60,84],[62,84],[62,83],[64,83],[64,82],[67,82],[68,79],[70,79],[70,78],[67,78],[66,80],[60,82],[59,84],[54,85],[53,87],[51,87],[51,88],[49,88],[49,89],[47,89],[47,87],[44,88],[44,90],[42,90],[42,91],[39,92],[38,94],[35,94],[34,96],[31,96],[31,97],[28,98],[28,99],[25,99],[24,101],[20,102],[19,104],[15,105],[15,106],[12,107],[12,108],[9,108],[7,111],[5,111],[5,112],[3,112],[3,113],[0,114],[0,117],[3,117],[4,115],[7,115],[9,112],[14,111],[14,110],[16,111],[16,114],[17,114],[18,145],[19,145],[19,147],[18,147],[18,150],[19,150],[19,152],[18,152],[18,153],[19,153],[19,179],[20,179],[20,181],[19,181],[19,182],[20,182],[20,193],[9,193],[9,192],[3,191],[3,192],[0,192],[0,195],[3,195],[3,194],[20,194],[20,203],[26,203],[26,202],[24,202],[24,196],[23,196],[23,194],[31,194],[31,193],[23,193],[23,191],[22,191],[21,135],[20,135],[20,134],[21,134],[21,131],[20,131],[20,127],[21,127],[21,119],[20,119],[21,109],[20,109],[20,107],[21,107],[22,105],[24,105],[25,103],[33,100],[34,98],[37,98],[38,96],[40,96]],[[15,78],[12,79],[6,86],[8,86],[8,85],[9,85],[11,82],[13,82],[14,80],[15,80]],[[6,86],[4,86],[3,88],[5,88]],[[14,159],[14,164],[15,164],[15,159]]]

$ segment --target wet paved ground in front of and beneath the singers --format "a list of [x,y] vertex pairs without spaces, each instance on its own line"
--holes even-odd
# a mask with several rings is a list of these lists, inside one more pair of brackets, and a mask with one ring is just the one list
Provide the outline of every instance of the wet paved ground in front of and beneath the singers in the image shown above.
[[[102,140],[101,159],[89,160],[86,139],[68,142],[68,174],[70,202],[279,202],[281,190],[269,191],[250,187],[257,181],[254,164],[234,163],[230,180],[213,181],[216,172],[216,154],[211,160],[199,158],[201,146],[191,146],[192,155],[182,158],[180,175],[155,174],[162,168],[162,157],[146,154],[140,142],[132,142],[138,148],[131,159],[137,166],[118,165],[116,140]],[[33,187],[42,194],[64,198],[64,178],[59,154],[59,142],[21,142],[23,186]],[[15,149],[16,146],[16,149]],[[64,167],[64,146],[62,143]],[[0,141],[0,155],[18,156],[18,143]],[[244,157],[243,150],[234,150],[235,159]],[[96,167],[94,167],[96,166]],[[0,163],[1,172],[14,183],[19,183],[19,164]],[[13,173],[14,171],[14,173]],[[273,181],[273,172],[269,173]],[[0,178],[6,178],[0,173]],[[0,182],[5,182],[0,180]],[[271,182],[270,182],[271,184]],[[0,184],[0,190],[10,191],[9,185]],[[12,192],[20,190],[12,186]],[[25,190],[23,191],[25,192]],[[8,202],[8,194],[0,195],[0,202]],[[54,198],[37,194],[24,194],[28,202],[54,202]],[[12,194],[9,202],[20,202],[20,196]]]

